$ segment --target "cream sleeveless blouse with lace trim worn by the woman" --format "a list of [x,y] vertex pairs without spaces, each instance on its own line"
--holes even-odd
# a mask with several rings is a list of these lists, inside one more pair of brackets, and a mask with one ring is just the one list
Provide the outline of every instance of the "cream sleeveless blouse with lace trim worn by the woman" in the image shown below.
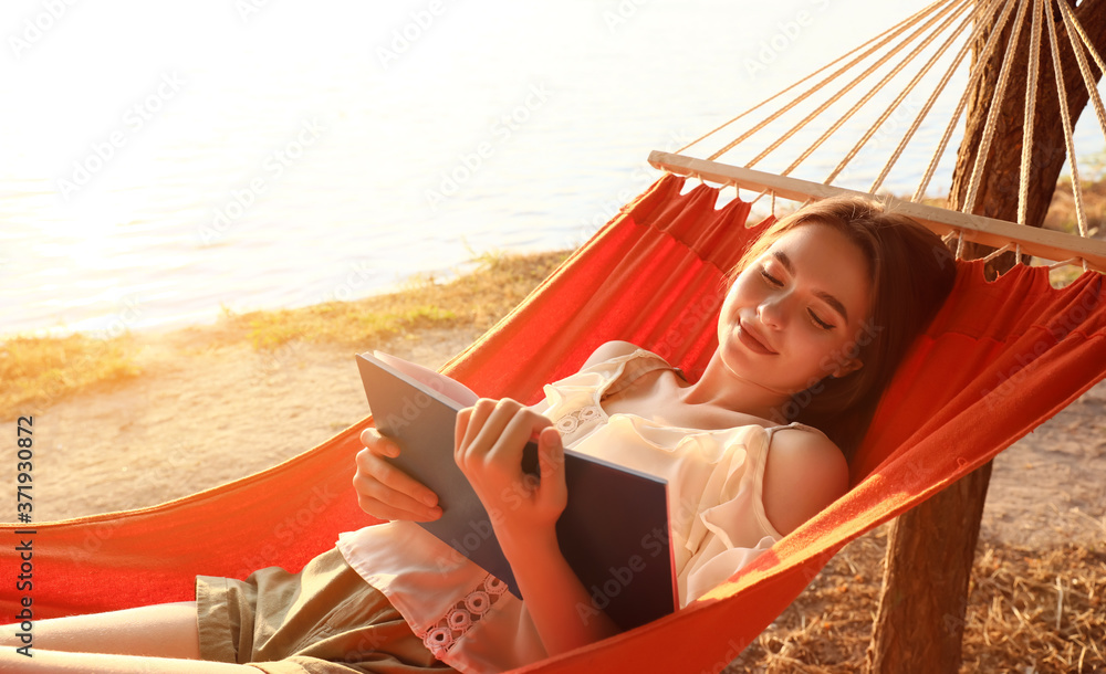
[[[670,367],[639,349],[546,386],[545,400],[534,409],[554,422],[566,447],[668,481],[682,608],[783,537],[764,513],[768,449],[780,428],[806,426],[701,431],[604,412],[604,396]],[[457,670],[503,671],[545,657],[524,602],[417,524],[365,527],[342,534],[337,546],[438,659]]]

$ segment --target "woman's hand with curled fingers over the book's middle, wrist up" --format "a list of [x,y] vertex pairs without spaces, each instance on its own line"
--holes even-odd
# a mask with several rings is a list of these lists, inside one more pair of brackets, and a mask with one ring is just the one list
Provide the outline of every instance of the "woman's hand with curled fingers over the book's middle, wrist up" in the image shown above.
[[[522,450],[538,434],[540,476],[522,470]],[[507,548],[555,541],[568,501],[561,434],[547,418],[514,400],[480,399],[457,415],[453,459],[483,503]]]

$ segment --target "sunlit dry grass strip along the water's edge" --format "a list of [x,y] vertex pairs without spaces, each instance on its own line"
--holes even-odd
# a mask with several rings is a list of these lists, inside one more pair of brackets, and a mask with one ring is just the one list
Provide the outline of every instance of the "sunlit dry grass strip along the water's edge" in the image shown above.
[[[228,314],[196,330],[192,341],[249,339],[274,349],[293,339],[364,345],[428,327],[491,327],[544,280],[567,251],[531,255],[486,254],[477,268],[448,283],[410,281],[399,293],[355,302],[330,302],[300,309]],[[11,337],[0,344],[0,415],[6,410],[42,409],[95,387],[115,386],[139,375],[138,340],[129,334],[100,339]]]

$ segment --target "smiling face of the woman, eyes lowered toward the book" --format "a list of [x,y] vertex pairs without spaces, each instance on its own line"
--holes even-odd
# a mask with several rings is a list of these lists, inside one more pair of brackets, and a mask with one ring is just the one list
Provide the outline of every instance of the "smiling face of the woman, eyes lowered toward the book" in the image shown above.
[[730,287],[718,322],[722,362],[772,391],[796,393],[858,369],[873,337],[860,249],[837,230],[803,224],[781,236]]

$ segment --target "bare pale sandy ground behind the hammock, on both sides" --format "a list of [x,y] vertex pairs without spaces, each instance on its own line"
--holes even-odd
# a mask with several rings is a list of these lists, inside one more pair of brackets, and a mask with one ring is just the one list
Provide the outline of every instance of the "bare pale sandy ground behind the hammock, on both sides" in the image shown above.
[[[36,522],[212,487],[294,456],[367,413],[354,349],[292,343],[265,354],[220,345],[210,330],[138,335],[142,376],[34,411]],[[437,368],[476,337],[425,331],[358,350]],[[1104,485],[1106,382],[999,455],[982,536],[1033,548],[1104,541]]]

